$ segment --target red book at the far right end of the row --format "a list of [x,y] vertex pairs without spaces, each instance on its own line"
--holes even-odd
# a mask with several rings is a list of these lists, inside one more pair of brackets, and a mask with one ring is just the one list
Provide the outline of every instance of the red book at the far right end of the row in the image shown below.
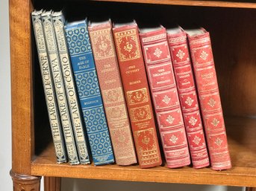
[[186,30],[212,169],[231,168],[219,87],[210,43],[205,29]]

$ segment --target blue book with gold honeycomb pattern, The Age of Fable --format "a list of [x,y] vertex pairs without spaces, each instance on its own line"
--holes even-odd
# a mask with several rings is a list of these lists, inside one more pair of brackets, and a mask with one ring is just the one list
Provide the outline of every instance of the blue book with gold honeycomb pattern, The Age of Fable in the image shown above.
[[65,26],[65,31],[94,164],[111,164],[114,162],[113,149],[107,129],[87,21],[70,23]]

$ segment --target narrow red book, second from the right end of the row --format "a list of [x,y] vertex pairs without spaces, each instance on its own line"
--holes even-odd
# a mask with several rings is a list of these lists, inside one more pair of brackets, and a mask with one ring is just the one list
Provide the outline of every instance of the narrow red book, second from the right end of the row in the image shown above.
[[167,38],[187,132],[191,161],[193,167],[199,169],[209,166],[210,161],[199,111],[196,85],[193,79],[187,33],[180,27],[176,27],[167,30]]

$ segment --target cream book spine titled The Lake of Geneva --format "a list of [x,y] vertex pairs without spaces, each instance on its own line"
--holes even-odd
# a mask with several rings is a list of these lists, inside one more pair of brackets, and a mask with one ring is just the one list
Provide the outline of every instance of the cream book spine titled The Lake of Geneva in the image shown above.
[[69,108],[66,101],[66,92],[64,89],[63,77],[60,68],[60,59],[57,51],[57,42],[54,35],[51,11],[42,13],[42,22],[43,31],[46,36],[46,48],[49,54],[49,64],[54,81],[57,105],[60,112],[60,121],[63,128],[63,135],[65,137],[69,164],[79,164],[78,153],[75,146],[75,138],[72,131],[72,123],[69,116]]

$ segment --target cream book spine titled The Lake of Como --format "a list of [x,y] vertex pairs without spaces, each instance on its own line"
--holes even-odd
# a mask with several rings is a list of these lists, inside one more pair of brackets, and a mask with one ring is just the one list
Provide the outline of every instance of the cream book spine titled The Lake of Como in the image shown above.
[[72,74],[72,66],[69,59],[69,53],[66,45],[66,36],[64,33],[63,15],[61,12],[51,15],[55,36],[57,39],[57,48],[60,55],[60,65],[63,74],[63,80],[66,90],[66,97],[69,104],[70,117],[75,136],[76,148],[78,150],[79,161],[81,164],[90,164],[90,158],[87,149],[87,137],[84,133],[84,123],[79,108],[79,100],[75,89],[75,80]]

